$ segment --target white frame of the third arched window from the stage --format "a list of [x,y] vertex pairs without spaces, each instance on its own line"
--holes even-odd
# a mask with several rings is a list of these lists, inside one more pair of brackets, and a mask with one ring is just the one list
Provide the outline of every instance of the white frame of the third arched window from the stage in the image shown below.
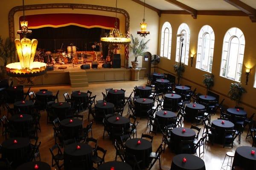
[[[207,69],[202,68],[202,60],[203,60],[203,50],[204,50],[204,37],[209,34],[210,37],[210,48],[208,51],[208,65]],[[205,25],[202,26],[200,32],[198,34],[198,48],[197,48],[197,58],[196,58],[196,68],[201,69],[205,72],[212,72],[212,63],[210,63],[211,59],[213,62],[213,52],[214,52],[214,43],[215,43],[215,35],[211,26]],[[211,52],[212,51],[212,52]]]

